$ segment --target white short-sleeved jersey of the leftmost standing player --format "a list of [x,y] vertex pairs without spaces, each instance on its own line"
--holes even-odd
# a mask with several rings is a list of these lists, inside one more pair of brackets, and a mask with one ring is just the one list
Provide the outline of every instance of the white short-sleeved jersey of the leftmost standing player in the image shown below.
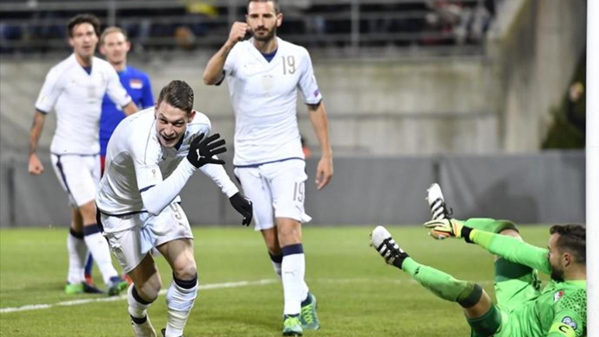
[[56,130],[50,145],[52,153],[99,153],[99,121],[104,94],[119,106],[131,102],[118,74],[103,59],[93,57],[90,74],[78,64],[75,54],[50,69],[35,109],[44,113],[56,111]]

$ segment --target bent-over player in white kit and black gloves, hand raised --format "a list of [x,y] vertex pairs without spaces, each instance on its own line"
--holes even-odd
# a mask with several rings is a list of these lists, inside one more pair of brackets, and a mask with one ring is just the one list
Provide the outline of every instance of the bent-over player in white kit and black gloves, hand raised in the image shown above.
[[[147,308],[158,297],[161,278],[149,254],[156,247],[173,269],[167,292],[167,337],[181,336],[198,292],[193,234],[179,192],[196,170],[211,177],[240,212],[252,220],[252,203],[213,157],[226,151],[210,121],[192,110],[193,91],[179,80],[162,88],[156,106],[124,119],[108,141],[106,169],[98,186],[98,224],[129,287],[135,336],[156,336]],[[215,165],[216,164],[216,165]]]

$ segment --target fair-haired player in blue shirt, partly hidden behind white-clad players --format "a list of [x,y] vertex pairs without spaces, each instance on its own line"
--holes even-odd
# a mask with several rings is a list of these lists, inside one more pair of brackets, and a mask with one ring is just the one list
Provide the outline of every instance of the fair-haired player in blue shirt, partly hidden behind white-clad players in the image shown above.
[[[127,65],[127,53],[131,49],[131,43],[123,29],[119,27],[107,27],[100,35],[100,52],[119,74],[120,84],[128,92],[133,103],[140,109],[146,109],[154,105],[152,85],[150,77],[143,71]],[[104,95],[102,100],[102,115],[100,117],[100,170],[104,174],[104,161],[108,139],[114,128],[125,118],[125,113],[114,103],[110,96]],[[88,284],[92,281],[92,261],[87,259],[85,266],[85,279]]]

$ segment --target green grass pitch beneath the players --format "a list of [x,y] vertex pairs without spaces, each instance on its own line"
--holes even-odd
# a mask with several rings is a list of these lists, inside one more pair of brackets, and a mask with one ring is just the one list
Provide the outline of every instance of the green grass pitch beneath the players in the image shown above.
[[[438,299],[400,270],[386,266],[368,234],[374,226],[305,226],[306,281],[319,302],[322,324],[305,336],[469,336],[461,308]],[[388,226],[415,260],[479,282],[492,294],[492,257],[458,240],[435,241],[420,227]],[[546,226],[523,227],[530,243],[546,246]],[[240,227],[195,227],[201,284],[276,279],[258,233]],[[97,298],[63,292],[65,228],[0,230],[0,307]],[[158,257],[163,288],[171,281]],[[116,266],[116,263],[115,263]],[[101,284],[98,270],[95,279]],[[186,336],[280,336],[279,281],[200,291]],[[157,330],[166,324],[164,295],[150,307]],[[53,306],[0,314],[1,336],[132,336],[126,300]]]

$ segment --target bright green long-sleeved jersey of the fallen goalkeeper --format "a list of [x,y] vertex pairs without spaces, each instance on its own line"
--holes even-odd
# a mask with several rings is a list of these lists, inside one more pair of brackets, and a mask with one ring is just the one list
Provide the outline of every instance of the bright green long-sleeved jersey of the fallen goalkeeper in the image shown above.
[[[506,260],[550,274],[548,250],[513,237],[472,230],[470,239]],[[501,308],[506,311],[506,308]],[[539,296],[507,309],[500,336],[586,335],[586,280],[549,281]]]

